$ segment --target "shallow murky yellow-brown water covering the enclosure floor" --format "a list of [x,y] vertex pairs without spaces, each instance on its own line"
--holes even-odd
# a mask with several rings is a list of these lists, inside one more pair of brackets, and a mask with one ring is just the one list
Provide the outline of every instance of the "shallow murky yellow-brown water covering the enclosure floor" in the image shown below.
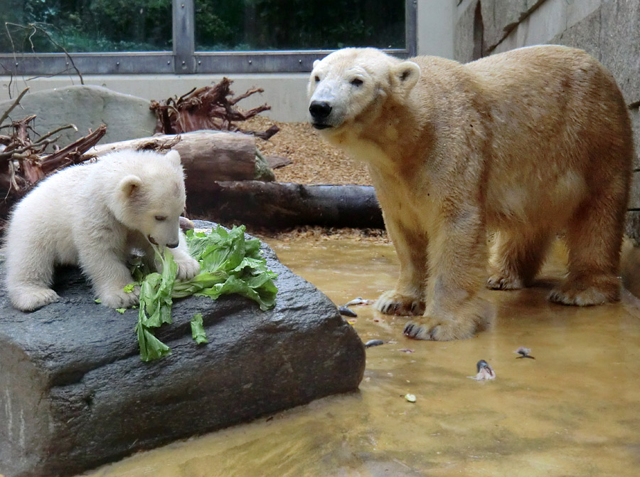
[[[348,240],[273,242],[279,258],[337,304],[395,283],[392,246]],[[562,256],[558,248],[557,257]],[[555,260],[543,271],[562,273]],[[356,306],[367,350],[360,391],[320,399],[86,475],[638,476],[640,309],[548,303],[550,285],[486,290],[492,330],[459,342],[402,336],[406,318]],[[516,359],[520,346],[535,360]],[[488,361],[497,378],[468,379]],[[405,400],[415,394],[416,402]]]

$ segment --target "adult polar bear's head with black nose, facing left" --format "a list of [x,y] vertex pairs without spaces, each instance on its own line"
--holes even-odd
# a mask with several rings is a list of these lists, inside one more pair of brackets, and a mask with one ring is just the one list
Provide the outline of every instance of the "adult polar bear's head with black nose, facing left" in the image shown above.
[[375,48],[344,48],[314,62],[307,93],[309,122],[330,136],[354,123],[376,120],[388,98],[404,102],[420,66]]

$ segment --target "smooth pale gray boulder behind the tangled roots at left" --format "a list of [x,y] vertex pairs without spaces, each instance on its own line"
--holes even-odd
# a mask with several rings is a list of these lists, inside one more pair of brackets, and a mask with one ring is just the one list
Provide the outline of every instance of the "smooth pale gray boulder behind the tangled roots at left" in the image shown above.
[[[13,101],[0,102],[0,111],[7,110],[11,103]],[[100,141],[102,144],[150,136],[156,127],[149,100],[116,93],[102,86],[66,86],[27,93],[20,106],[11,112],[11,119],[18,120],[26,115],[38,116],[33,126],[40,135],[63,125],[78,127],[78,132],[60,132],[60,147],[87,135],[89,128],[95,130],[101,124],[107,125],[107,134]]]

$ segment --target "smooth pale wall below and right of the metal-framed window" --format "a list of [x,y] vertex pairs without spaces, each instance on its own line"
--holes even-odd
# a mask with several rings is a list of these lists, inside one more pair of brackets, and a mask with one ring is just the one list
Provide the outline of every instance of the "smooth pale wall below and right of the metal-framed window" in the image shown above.
[[[453,57],[454,0],[417,1],[418,53]],[[100,85],[129,95],[146,99],[166,99],[181,95],[194,87],[218,82],[223,76],[233,79],[235,93],[259,86],[262,95],[242,100],[242,108],[267,103],[272,110],[265,115],[279,121],[306,120],[305,73],[293,74],[235,74],[226,75],[85,75],[87,85]],[[55,76],[53,78],[9,78],[0,75],[0,101],[16,97],[27,85],[32,91],[60,88],[80,84],[78,77]]]

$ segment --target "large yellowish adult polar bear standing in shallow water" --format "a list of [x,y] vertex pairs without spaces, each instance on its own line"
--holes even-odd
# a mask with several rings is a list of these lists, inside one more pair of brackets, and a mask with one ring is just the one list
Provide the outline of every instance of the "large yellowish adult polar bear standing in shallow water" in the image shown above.
[[400,261],[376,308],[422,315],[405,335],[466,338],[493,313],[478,296],[528,285],[565,231],[567,305],[619,300],[634,147],[622,94],[584,51],[533,46],[462,65],[346,48],[314,63],[309,120],[368,162]]

